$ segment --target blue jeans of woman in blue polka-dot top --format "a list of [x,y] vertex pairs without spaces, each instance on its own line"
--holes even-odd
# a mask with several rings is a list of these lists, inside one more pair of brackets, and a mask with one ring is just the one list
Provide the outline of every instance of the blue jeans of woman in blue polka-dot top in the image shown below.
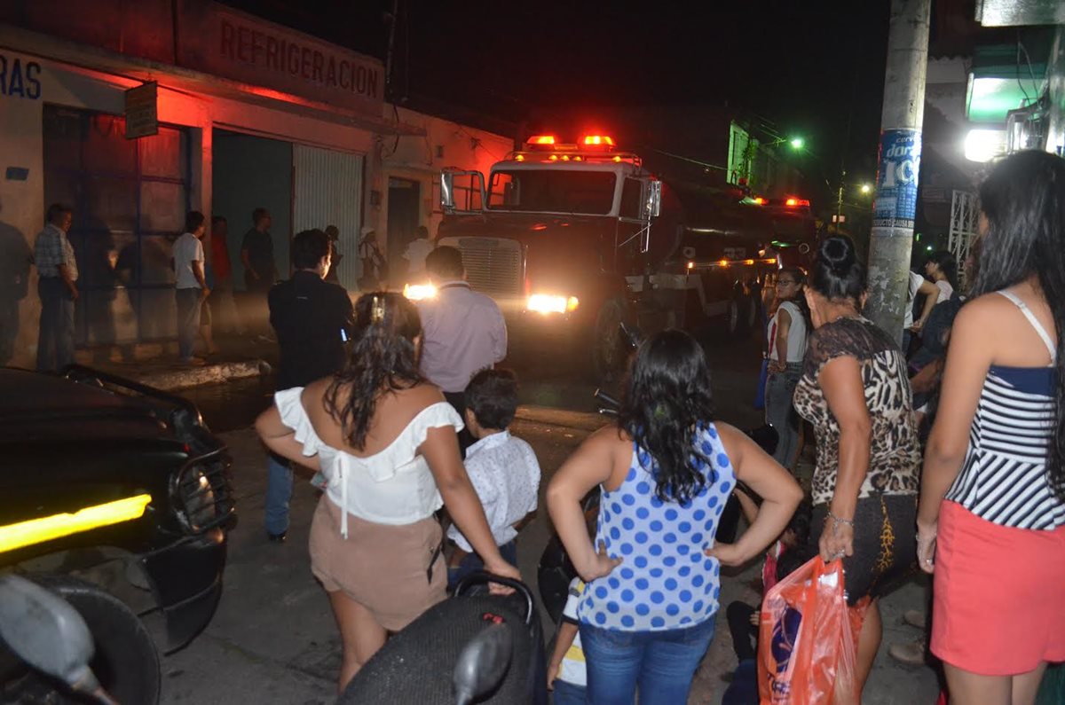
[[595,705],[675,705],[688,702],[699,662],[714,639],[710,617],[665,632],[616,632],[580,624],[588,667],[588,702]]

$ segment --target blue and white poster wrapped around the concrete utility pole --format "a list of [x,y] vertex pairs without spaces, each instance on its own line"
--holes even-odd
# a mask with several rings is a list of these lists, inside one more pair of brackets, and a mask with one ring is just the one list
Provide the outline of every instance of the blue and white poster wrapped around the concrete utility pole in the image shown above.
[[913,233],[920,166],[920,130],[884,130],[881,133],[873,229],[890,229],[892,234]]

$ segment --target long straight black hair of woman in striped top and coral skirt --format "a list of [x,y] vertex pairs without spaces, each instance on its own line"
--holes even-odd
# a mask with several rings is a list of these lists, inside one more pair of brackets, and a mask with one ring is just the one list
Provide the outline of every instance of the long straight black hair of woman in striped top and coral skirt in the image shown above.
[[980,242],[972,296],[1036,277],[1058,333],[1054,428],[1047,473],[1065,499],[1065,160],[1044,151],[1006,157],[980,186],[987,235]]

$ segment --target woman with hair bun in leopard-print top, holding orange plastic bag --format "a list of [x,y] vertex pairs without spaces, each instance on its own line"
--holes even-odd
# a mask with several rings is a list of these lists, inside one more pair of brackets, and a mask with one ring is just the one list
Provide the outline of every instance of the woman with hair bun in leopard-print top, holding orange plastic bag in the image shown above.
[[794,405],[817,436],[810,552],[842,558],[848,604],[869,597],[858,638],[858,692],[880,649],[876,604],[913,568],[921,454],[906,360],[862,315],[866,272],[850,237],[828,237],[806,302],[814,332]]

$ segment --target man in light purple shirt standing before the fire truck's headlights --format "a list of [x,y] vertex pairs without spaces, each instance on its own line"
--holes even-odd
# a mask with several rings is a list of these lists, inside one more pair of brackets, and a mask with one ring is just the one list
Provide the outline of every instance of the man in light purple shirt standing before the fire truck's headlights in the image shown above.
[[[488,296],[470,289],[462,252],[438,247],[425,258],[437,296],[417,302],[422,315],[422,374],[444,393],[463,416],[464,390],[479,371],[507,357],[507,324]],[[463,416],[464,417],[464,416]],[[459,433],[462,453],[473,442]]]

